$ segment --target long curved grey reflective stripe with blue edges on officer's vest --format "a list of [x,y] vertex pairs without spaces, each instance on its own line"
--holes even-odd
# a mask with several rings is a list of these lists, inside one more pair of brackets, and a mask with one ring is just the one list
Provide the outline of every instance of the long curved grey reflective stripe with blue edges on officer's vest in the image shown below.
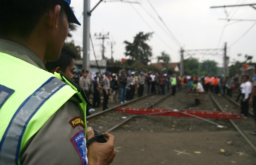
[[28,122],[45,101],[64,85],[57,78],[49,78],[19,106],[0,142],[1,165],[18,165],[21,140]]

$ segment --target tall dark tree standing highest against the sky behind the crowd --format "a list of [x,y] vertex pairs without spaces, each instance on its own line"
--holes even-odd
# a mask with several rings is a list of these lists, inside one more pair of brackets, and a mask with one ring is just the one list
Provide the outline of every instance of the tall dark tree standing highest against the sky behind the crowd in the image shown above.
[[153,33],[139,32],[133,40],[133,43],[128,41],[124,41],[126,44],[126,52],[125,55],[130,57],[130,60],[138,60],[142,64],[147,65],[150,62],[150,57],[152,57],[152,49],[149,45],[147,45],[146,41],[152,37]]

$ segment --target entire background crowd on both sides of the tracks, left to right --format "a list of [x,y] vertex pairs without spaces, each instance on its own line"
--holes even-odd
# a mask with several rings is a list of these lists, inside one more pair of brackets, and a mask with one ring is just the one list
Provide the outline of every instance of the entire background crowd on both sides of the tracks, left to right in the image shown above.
[[[101,105],[101,95],[103,95],[102,108],[108,108],[109,97],[111,103],[120,102],[120,104],[132,100],[137,94],[137,97],[142,97],[145,94],[156,92],[156,94],[166,94],[170,92],[175,96],[176,90],[182,90],[184,84],[188,84],[188,90],[199,92],[211,92],[218,95],[226,94],[232,97],[233,90],[239,88],[240,93],[236,101],[241,103],[241,114],[249,116],[249,104],[252,104],[254,94],[253,82],[248,75],[242,76],[241,83],[238,84],[238,76],[226,77],[205,75],[205,76],[180,76],[178,74],[168,75],[166,73],[159,74],[155,72],[139,73],[128,72],[121,70],[120,73],[110,73],[106,71],[102,75],[92,73],[88,77],[89,71],[83,70],[81,73],[74,72],[73,81],[78,83],[88,97],[92,97],[92,108],[99,108]],[[81,76],[79,76],[81,75]],[[86,83],[85,83],[86,82]],[[86,85],[85,85],[86,84]],[[254,91],[256,93],[256,90]],[[251,98],[251,102],[249,101]],[[195,99],[195,104],[200,104],[200,99]],[[89,107],[87,108],[89,109]],[[87,112],[90,115],[90,112]],[[251,132],[256,134],[256,132]]]

